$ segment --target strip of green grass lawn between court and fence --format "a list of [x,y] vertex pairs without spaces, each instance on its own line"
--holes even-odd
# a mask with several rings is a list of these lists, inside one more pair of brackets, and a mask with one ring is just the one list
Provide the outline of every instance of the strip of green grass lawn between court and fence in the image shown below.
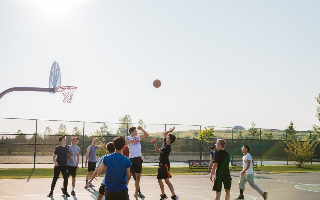
[[[320,165],[305,165],[303,168],[297,168],[293,165],[277,165],[277,166],[259,166],[259,171],[274,173],[294,173],[294,172],[320,172]],[[231,167],[230,167],[231,170]],[[142,176],[156,176],[157,167],[143,167]],[[201,175],[205,174],[206,169],[193,169],[189,172],[189,167],[171,167],[171,175]],[[258,173],[259,173],[258,171]],[[238,172],[238,171],[237,171]],[[239,171],[240,172],[240,171]],[[85,177],[86,168],[77,170],[77,177]],[[52,178],[53,169],[0,169],[0,179],[28,179],[28,178]],[[60,174],[62,177],[62,175]]]

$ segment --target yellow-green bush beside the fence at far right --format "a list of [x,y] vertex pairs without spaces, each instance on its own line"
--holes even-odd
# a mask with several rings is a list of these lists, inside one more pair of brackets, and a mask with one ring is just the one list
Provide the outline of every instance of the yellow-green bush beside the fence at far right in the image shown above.
[[293,161],[294,165],[301,168],[307,162],[310,162],[313,156],[316,156],[315,150],[319,142],[311,141],[285,141],[287,147],[284,152],[288,156],[289,161]]

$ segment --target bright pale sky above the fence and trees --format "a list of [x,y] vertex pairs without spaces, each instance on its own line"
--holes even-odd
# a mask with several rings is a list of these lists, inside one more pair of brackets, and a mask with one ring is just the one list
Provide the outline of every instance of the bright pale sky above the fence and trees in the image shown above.
[[[2,0],[0,117],[242,125],[319,124],[319,1]],[[155,79],[162,81],[154,88]]]

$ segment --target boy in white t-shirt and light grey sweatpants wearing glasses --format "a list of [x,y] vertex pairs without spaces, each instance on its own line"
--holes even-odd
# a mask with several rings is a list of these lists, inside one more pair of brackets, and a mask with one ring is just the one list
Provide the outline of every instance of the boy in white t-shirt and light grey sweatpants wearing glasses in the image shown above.
[[257,190],[257,192],[263,197],[264,200],[268,199],[268,192],[262,191],[257,184],[254,183],[253,169],[252,169],[252,157],[248,153],[250,151],[250,146],[244,145],[241,148],[243,153],[242,162],[243,162],[243,170],[240,172],[240,180],[239,180],[239,189],[240,195],[236,200],[244,200],[244,185],[248,181],[249,185]]

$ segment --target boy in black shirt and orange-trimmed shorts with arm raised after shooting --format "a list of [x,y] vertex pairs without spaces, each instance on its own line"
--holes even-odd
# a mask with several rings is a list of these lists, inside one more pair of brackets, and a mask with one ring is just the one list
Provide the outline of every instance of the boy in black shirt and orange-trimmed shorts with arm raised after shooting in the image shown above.
[[163,179],[164,179],[164,182],[168,185],[172,193],[171,198],[174,200],[177,200],[179,198],[179,196],[175,195],[173,186],[169,180],[169,178],[172,177],[170,174],[169,154],[171,152],[171,144],[176,140],[176,136],[170,133],[172,131],[174,131],[174,127],[170,131],[166,131],[163,133],[164,143],[160,149],[157,146],[156,139],[153,139],[153,138],[151,139],[151,142],[153,142],[153,144],[155,145],[156,153],[160,153],[159,168],[158,168],[158,175],[157,175],[158,183],[161,189],[160,200],[164,200],[168,198],[168,196],[164,194],[164,184],[162,182]]

